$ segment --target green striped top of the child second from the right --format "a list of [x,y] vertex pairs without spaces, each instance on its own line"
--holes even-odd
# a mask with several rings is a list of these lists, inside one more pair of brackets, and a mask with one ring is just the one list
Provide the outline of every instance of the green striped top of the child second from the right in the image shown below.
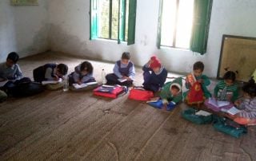
[[228,100],[234,102],[238,100],[238,85],[232,84],[227,86],[225,81],[219,81],[214,88],[214,96],[218,100]]

